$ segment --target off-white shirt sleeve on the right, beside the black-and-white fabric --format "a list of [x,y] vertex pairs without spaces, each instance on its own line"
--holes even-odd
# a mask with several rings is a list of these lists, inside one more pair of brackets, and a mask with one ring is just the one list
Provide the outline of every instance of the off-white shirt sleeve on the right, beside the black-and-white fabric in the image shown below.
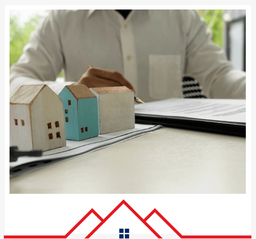
[[211,30],[195,10],[187,10],[185,75],[203,87],[207,98],[245,99],[245,72],[234,69],[224,49],[212,43]]

